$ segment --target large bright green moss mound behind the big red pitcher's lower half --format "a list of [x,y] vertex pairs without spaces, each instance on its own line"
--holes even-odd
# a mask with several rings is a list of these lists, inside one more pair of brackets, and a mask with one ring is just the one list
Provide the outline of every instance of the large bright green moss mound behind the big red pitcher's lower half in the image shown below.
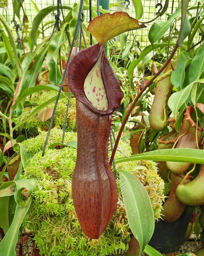
[[[60,150],[47,149],[42,157],[42,147],[46,138],[46,132],[42,132],[35,138],[23,142],[24,147],[33,157],[28,160],[22,178],[28,179],[35,176],[38,179],[38,187],[32,195],[32,203],[24,218],[24,226],[35,234],[40,254],[46,256],[105,256],[123,255],[128,248],[129,225],[122,202],[121,195],[118,197],[117,210],[109,223],[109,226],[99,239],[86,237],[78,223],[71,196],[71,177],[76,161],[76,149],[65,147]],[[62,131],[52,129],[47,146],[56,141],[61,141]],[[76,140],[76,133],[66,132],[64,143]],[[120,141],[117,152],[130,155],[131,148],[126,142]],[[122,153],[121,153],[122,152]],[[126,171],[138,164],[142,164],[142,170],[133,171],[138,177],[146,179],[146,188],[153,187],[158,193],[157,169],[152,161],[135,161],[118,164],[118,168]],[[144,172],[144,168],[146,172]],[[149,170],[152,169],[150,172]],[[149,174],[148,174],[149,172]],[[145,174],[144,174],[145,173]],[[159,178],[160,179],[160,178]],[[162,180],[160,179],[161,183]],[[148,182],[151,182],[148,183]],[[162,186],[161,186],[162,187]],[[150,191],[150,190],[149,190]],[[155,200],[153,197],[151,201]],[[163,191],[162,191],[163,192]],[[162,194],[163,195],[163,194]],[[157,198],[162,197],[157,194]],[[160,204],[160,201],[157,200]],[[157,208],[157,214],[159,208]]]

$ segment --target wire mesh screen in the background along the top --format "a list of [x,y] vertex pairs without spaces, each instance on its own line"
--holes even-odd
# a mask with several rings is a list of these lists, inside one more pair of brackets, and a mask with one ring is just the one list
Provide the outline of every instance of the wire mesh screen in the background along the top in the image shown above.
[[[62,5],[73,6],[73,4],[75,2],[76,2],[75,0],[62,0]],[[114,6],[114,4],[117,4],[117,2],[119,2],[118,6]],[[29,0],[24,1],[24,9],[25,9],[25,13],[28,17],[29,26],[32,26],[33,19],[35,18],[36,14],[37,14],[37,12],[35,11],[35,8],[34,8],[35,4],[38,7],[38,9],[41,10],[48,6],[53,6],[53,5],[56,6],[57,1],[56,0],[43,0],[43,1],[42,0],[33,0],[33,3],[32,3],[32,1],[29,1]],[[113,4],[113,7],[110,9],[111,12],[126,11],[127,13],[129,13],[129,15],[131,17],[135,17],[135,8],[134,8],[131,0],[125,0],[122,3],[119,0],[110,0],[110,3]],[[146,22],[148,20],[153,19],[157,15],[157,13],[161,11],[162,7],[164,6],[164,3],[165,3],[165,0],[142,0],[144,12],[143,12],[142,19],[140,21]],[[170,0],[166,14],[162,15],[162,17],[159,17],[158,19],[166,20],[168,15],[170,15],[177,9],[178,3],[179,3],[179,0]],[[196,4],[196,0],[191,0],[190,3],[191,3],[191,5]],[[96,1],[93,0],[92,4],[96,5]],[[197,10],[195,8],[195,9],[191,10],[191,13],[195,14],[196,11]],[[3,9],[2,12],[3,12],[3,15],[6,18],[8,24],[10,24],[12,26],[12,24],[13,24],[12,21],[14,18],[12,2],[10,2],[8,8]],[[66,16],[67,12],[68,12],[68,10],[64,10],[65,16]],[[45,30],[44,30],[44,36],[51,35],[53,26],[54,26],[54,21],[55,21],[55,14],[56,14],[56,11],[53,11],[53,12],[49,13],[44,18],[43,24],[44,25],[46,24]],[[21,15],[21,19],[22,19],[22,17],[23,17],[22,10],[20,11],[20,15]],[[62,19],[62,14],[60,15],[60,19]],[[15,20],[17,23],[20,23],[20,21],[18,20],[17,17],[15,17]],[[53,21],[53,23],[51,21]],[[85,11],[85,21],[89,22],[88,11]],[[49,22],[51,22],[51,23],[49,23]],[[128,37],[127,37],[128,41],[129,42],[137,41],[140,44],[141,50],[143,48],[145,48],[147,45],[150,44],[149,40],[148,40],[148,31],[152,24],[153,24],[153,22],[146,24],[146,28],[144,28],[142,30],[135,30],[135,31],[129,32]],[[178,24],[178,26],[179,26],[179,24]],[[169,32],[167,32],[167,34],[168,33]],[[196,41],[199,41],[199,33],[197,33]]]

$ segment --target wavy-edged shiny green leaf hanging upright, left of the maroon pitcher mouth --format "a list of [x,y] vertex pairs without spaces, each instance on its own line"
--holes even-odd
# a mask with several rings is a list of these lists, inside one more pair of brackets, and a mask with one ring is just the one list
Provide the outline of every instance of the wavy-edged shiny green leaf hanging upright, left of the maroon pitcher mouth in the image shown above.
[[65,42],[64,30],[66,24],[64,24],[58,33],[55,33],[49,44],[47,53],[47,66],[49,67],[49,81],[51,84],[58,86],[62,81],[62,75],[60,68],[57,65],[59,58],[59,49]]

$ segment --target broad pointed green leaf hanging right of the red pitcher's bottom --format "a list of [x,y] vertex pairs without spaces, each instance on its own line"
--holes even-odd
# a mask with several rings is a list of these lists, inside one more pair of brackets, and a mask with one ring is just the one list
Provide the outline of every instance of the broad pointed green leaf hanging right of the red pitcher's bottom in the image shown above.
[[149,195],[133,174],[120,171],[120,187],[130,229],[143,252],[154,232],[154,213]]

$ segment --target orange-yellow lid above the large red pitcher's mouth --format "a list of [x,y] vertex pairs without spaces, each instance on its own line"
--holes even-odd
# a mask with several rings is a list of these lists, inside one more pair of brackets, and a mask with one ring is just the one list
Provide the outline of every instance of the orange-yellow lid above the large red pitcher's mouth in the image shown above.
[[139,25],[136,19],[133,19],[124,11],[117,11],[113,14],[105,13],[93,19],[87,30],[104,45],[111,38],[120,35],[126,31],[145,28],[144,24]]

